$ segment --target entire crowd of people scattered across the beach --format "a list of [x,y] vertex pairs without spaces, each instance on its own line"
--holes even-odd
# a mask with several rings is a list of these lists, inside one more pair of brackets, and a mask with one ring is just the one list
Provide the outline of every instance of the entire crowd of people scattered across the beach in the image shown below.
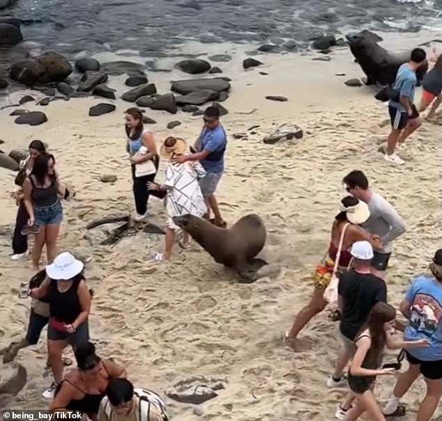
[[[397,72],[390,90],[388,112],[391,132],[385,159],[404,164],[397,154],[405,141],[421,125],[420,113],[430,108],[427,119],[435,118],[441,102],[442,58],[422,81],[423,95],[414,104],[418,86],[416,70],[427,63],[423,49],[414,49],[409,63]],[[157,262],[172,260],[174,245],[190,247],[190,237],[176,223],[176,216],[191,214],[211,221],[220,228],[222,218],[215,193],[224,173],[227,134],[219,111],[209,106],[203,128],[194,145],[183,138],[169,136],[157,148],[153,133],[143,124],[142,111],[125,111],[126,151],[132,173],[135,223],[148,222],[151,196],[164,200],[166,209],[165,246],[153,255]],[[164,174],[158,177],[160,159]],[[158,178],[163,181],[158,182]],[[55,157],[42,141],[29,144],[29,157],[21,164],[13,197],[17,219],[13,233],[12,260],[29,255],[28,237],[33,236],[31,258],[33,277],[20,296],[31,297],[31,312],[26,335],[3,350],[3,361],[15,358],[24,347],[35,345],[47,326],[47,370],[52,384],[43,392],[52,410],[79,411],[91,420],[165,421],[164,402],[146,388],[136,388],[125,367],[97,354],[90,342],[89,315],[93,291],[87,285],[84,264],[65,251],[57,254],[57,238],[63,221],[63,200],[75,193],[66,189],[56,170]],[[330,228],[330,244],[313,275],[310,302],[298,312],[294,324],[284,334],[287,349],[302,352],[310,346],[299,337],[303,328],[320,312],[337,321],[337,336],[342,347],[336,356],[329,388],[347,388],[348,395],[337,408],[340,420],[357,420],[363,413],[369,420],[383,421],[388,416],[404,415],[400,400],[418,377],[423,376],[427,393],[418,408],[418,421],[428,421],[442,395],[442,249],[429,262],[429,273],[418,276],[409,286],[399,312],[387,300],[388,263],[393,244],[406,231],[406,223],[395,207],[370,188],[367,175],[351,170],[342,179],[344,198]],[[45,250],[44,269],[40,267]],[[397,334],[402,332],[402,338]],[[72,347],[76,367],[63,351]],[[383,351],[400,351],[397,361],[383,363]],[[400,372],[402,360],[408,367]],[[397,376],[390,399],[381,408],[374,396],[377,376]]]

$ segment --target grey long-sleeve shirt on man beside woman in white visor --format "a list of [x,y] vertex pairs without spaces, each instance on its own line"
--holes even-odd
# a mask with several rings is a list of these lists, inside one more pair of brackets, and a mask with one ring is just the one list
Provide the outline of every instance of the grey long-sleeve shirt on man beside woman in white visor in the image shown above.
[[367,205],[370,216],[362,227],[370,234],[381,237],[383,244],[381,253],[391,253],[392,241],[405,232],[404,221],[395,208],[378,193],[373,193]]

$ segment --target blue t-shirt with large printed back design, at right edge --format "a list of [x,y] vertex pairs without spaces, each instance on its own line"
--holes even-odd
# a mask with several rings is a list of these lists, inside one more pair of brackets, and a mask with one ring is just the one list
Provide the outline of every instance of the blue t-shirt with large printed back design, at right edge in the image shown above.
[[442,285],[435,278],[419,276],[406,292],[411,308],[410,323],[404,340],[427,339],[427,348],[409,348],[407,351],[422,361],[442,360]]

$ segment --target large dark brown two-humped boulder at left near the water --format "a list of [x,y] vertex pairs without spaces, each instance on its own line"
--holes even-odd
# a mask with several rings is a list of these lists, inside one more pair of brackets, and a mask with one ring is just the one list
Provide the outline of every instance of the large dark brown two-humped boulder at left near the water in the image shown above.
[[34,60],[14,63],[9,70],[11,79],[22,84],[47,84],[66,79],[72,73],[70,63],[55,51],[47,51]]

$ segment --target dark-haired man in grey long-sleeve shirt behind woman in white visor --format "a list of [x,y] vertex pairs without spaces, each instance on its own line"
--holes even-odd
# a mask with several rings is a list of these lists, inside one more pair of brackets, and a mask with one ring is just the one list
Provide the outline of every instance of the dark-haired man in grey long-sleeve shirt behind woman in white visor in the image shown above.
[[404,221],[387,200],[369,189],[367,177],[362,171],[353,170],[342,181],[348,193],[363,200],[369,207],[370,217],[362,226],[370,234],[381,237],[383,247],[380,251],[374,252],[372,267],[374,275],[384,278],[392,243],[405,232]]

